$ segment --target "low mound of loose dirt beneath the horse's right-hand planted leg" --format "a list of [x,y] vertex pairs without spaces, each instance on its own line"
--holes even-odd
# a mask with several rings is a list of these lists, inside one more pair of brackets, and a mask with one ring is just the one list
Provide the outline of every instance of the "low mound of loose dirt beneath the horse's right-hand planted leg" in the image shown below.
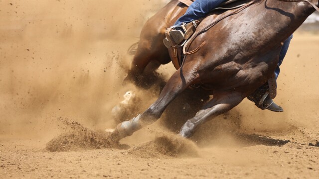
[[198,157],[197,147],[191,141],[176,135],[164,135],[134,146],[128,153],[142,158]]

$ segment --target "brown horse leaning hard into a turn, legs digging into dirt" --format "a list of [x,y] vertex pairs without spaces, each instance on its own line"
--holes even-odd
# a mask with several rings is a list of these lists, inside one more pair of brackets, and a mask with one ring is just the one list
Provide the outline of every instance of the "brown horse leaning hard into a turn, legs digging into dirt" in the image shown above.
[[[318,0],[310,1],[318,6]],[[131,80],[141,84],[140,77],[147,76],[160,64],[170,62],[162,43],[164,32],[186,8],[178,0],[171,0],[147,21],[129,73]],[[120,123],[112,133],[112,139],[119,141],[155,122],[184,89],[194,84],[205,84],[212,89],[213,98],[180,129],[181,136],[192,136],[200,124],[232,109],[271,78],[283,42],[314,11],[309,2],[257,0],[218,22],[190,44],[189,50],[193,50],[206,41],[197,53],[184,58],[159,98],[142,114]],[[221,14],[221,11],[209,14],[196,31],[205,28]]]

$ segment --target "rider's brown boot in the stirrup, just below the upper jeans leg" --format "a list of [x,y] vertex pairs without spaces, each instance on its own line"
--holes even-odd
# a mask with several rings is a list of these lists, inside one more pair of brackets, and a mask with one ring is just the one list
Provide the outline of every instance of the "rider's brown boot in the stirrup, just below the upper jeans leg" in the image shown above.
[[182,25],[174,25],[169,27],[165,31],[166,38],[163,40],[164,45],[167,48],[176,47],[177,45],[183,46],[187,39],[193,35],[197,25],[202,21],[193,20],[189,23],[183,23]]

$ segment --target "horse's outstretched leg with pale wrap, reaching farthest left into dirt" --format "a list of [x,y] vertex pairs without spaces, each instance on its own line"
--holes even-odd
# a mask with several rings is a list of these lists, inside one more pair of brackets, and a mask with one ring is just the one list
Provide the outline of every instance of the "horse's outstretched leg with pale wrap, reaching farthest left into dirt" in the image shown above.
[[198,77],[197,73],[193,73],[193,70],[185,70],[183,72],[181,69],[170,77],[159,98],[145,112],[129,121],[118,124],[115,131],[111,134],[113,141],[118,142],[120,139],[132,135],[142,127],[154,123],[160,118],[167,105]]

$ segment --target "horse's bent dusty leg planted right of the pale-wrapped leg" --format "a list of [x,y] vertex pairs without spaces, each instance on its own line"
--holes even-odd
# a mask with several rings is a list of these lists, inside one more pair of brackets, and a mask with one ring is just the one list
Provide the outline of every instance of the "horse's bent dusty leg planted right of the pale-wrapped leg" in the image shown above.
[[180,135],[191,137],[200,124],[223,114],[238,105],[245,96],[239,92],[217,93],[196,115],[188,119],[180,129]]

